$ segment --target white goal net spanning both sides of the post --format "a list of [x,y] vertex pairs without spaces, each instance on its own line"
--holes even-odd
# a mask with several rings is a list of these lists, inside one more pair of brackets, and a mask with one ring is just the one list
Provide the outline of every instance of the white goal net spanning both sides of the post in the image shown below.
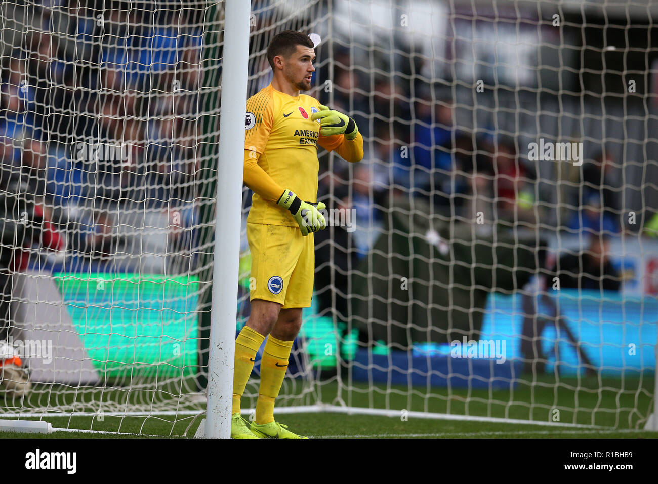
[[[191,436],[224,2],[101,4],[0,14],[0,419]],[[365,141],[318,149],[328,228],[275,412],[654,425],[658,4],[601,5],[251,2],[247,94],[278,32],[318,34],[308,94]]]

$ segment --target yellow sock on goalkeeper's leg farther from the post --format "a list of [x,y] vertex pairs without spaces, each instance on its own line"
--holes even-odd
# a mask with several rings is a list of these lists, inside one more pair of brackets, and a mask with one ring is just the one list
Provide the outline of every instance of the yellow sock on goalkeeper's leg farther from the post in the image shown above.
[[[261,360],[261,387],[256,402],[256,423],[274,421],[274,399],[278,396],[284,383],[292,341],[282,341],[268,336]],[[244,387],[243,387],[244,388]]]

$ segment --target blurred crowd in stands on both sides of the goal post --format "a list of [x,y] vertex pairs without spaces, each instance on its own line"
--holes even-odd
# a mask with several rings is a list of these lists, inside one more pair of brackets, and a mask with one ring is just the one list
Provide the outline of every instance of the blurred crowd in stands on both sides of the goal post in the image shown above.
[[[99,259],[126,251],[134,241],[118,231],[116,214],[128,205],[164,211],[170,219],[168,251],[189,249],[191,227],[199,221],[203,9],[88,5],[72,10],[74,16],[57,16],[66,8],[34,6],[36,25],[20,47],[3,55],[2,163],[27,180],[39,217],[57,234],[59,242],[51,245],[59,250]],[[265,31],[266,22],[259,19],[256,28]],[[265,46],[266,36],[260,40],[263,45],[252,45],[252,51]],[[314,83],[324,87],[331,78],[331,88],[311,94],[354,117],[366,141],[357,165],[320,153],[318,200],[355,213],[356,230],[316,234],[318,242],[342,240],[342,255],[332,255],[343,257],[338,267],[354,267],[368,254],[386,214],[402,199],[422,200],[432,213],[460,223],[480,219],[489,226],[607,235],[624,229],[622,185],[615,176],[620,161],[608,146],[586,159],[559,203],[559,223],[549,227],[548,204],[527,149],[493,129],[459,126],[455,100],[413,74],[422,70],[413,64],[422,59],[397,55],[391,61],[387,54],[389,63],[379,66],[378,59],[372,65],[364,57],[366,51],[338,42],[332,52],[326,48],[318,49]],[[268,70],[257,62],[250,68]],[[267,80],[252,80],[249,94]]]

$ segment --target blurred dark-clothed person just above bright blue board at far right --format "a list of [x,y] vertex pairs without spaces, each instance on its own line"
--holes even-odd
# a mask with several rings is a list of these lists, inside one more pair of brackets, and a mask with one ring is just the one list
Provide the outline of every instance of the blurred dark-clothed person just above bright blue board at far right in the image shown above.
[[605,234],[592,234],[588,248],[560,258],[552,272],[561,288],[619,290],[620,279],[610,258],[610,240]]

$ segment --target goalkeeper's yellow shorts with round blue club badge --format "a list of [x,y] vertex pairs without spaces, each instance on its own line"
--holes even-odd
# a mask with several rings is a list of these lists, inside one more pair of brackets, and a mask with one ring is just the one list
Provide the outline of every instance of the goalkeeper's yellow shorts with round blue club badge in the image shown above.
[[247,223],[251,252],[249,300],[264,299],[282,309],[310,308],[315,277],[313,234],[299,227]]

